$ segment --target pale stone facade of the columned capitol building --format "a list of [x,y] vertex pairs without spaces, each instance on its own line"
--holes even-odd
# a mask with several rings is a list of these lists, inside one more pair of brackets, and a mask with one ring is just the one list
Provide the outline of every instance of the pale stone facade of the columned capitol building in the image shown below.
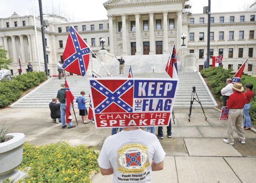
[[[71,25],[96,55],[99,55],[102,37],[106,40],[105,49],[114,55],[166,54],[175,43],[179,57],[195,54],[196,68],[201,70],[201,56],[205,55],[207,47],[207,15],[191,15],[191,6],[186,0],[108,0],[103,6],[108,11],[106,20],[70,23],[56,17],[44,18],[49,22],[45,38],[51,75],[57,73],[56,64],[61,60]],[[255,10],[211,14],[210,54],[223,54],[224,68],[232,67],[236,71],[235,64],[242,64],[248,54],[252,56],[248,62],[256,65],[255,16]],[[23,67],[31,61],[34,70],[38,70],[40,60],[41,70],[44,68],[40,19],[35,18],[35,21],[39,57],[33,16],[21,17],[14,13],[9,18],[0,18],[0,45],[13,59],[10,67],[13,74],[18,70],[18,56]],[[182,33],[187,35],[187,46],[180,46]],[[246,65],[244,72],[256,74],[256,68]]]

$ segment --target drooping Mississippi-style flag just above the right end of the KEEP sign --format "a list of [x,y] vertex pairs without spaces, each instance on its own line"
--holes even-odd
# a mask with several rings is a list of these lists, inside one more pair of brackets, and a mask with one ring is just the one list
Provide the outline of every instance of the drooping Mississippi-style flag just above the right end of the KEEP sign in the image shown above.
[[178,66],[175,44],[172,47],[172,52],[169,56],[168,62],[165,67],[165,71],[171,78],[178,78]]

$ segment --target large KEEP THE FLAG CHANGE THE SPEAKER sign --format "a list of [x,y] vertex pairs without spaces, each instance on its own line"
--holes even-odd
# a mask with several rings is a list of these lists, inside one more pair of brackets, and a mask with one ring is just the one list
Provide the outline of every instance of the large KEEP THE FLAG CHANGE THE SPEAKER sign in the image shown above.
[[178,79],[88,80],[96,128],[169,125]]

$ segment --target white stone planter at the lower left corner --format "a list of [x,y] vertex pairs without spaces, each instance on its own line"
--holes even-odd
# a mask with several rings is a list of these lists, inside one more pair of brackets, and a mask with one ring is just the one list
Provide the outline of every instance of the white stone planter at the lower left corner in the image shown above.
[[16,181],[26,176],[26,173],[14,170],[22,162],[25,135],[22,133],[8,135],[13,136],[13,138],[7,142],[0,143],[0,182],[5,178],[11,178],[11,180]]

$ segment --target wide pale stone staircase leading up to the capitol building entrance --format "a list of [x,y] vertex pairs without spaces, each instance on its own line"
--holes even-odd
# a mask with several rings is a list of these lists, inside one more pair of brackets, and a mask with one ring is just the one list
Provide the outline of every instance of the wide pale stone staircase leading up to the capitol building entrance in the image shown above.
[[[169,54],[124,56],[124,74],[119,74],[119,62],[115,58],[112,58],[108,63],[104,64],[104,67],[106,67],[108,72],[111,73],[112,77],[127,77],[129,67],[131,65],[133,77],[169,78],[165,72],[165,66],[168,57]],[[152,69],[153,67],[154,72]],[[178,62],[178,68],[179,88],[175,98],[174,107],[177,108],[190,106],[193,86],[196,87],[198,98],[201,101],[203,107],[215,107],[217,105],[216,101],[214,101],[214,98],[208,90],[200,73],[181,73],[180,62]],[[103,67],[98,69],[98,75],[101,77],[107,76]],[[69,88],[71,89],[75,99],[80,95],[80,91],[82,90],[84,90],[86,93],[85,98],[89,98],[89,85],[87,80],[88,77],[91,77],[90,71],[87,71],[87,75],[85,77],[66,77]],[[35,88],[32,92],[25,95],[16,103],[13,103],[11,107],[48,107],[51,99],[56,97],[57,92],[60,89],[61,82],[64,82],[64,80],[58,80],[58,77],[52,77],[50,80]],[[88,105],[89,104],[87,103],[87,107],[89,107]],[[77,107],[77,103],[74,102],[74,106]],[[199,103],[194,102],[193,107],[200,107],[200,105]]]

